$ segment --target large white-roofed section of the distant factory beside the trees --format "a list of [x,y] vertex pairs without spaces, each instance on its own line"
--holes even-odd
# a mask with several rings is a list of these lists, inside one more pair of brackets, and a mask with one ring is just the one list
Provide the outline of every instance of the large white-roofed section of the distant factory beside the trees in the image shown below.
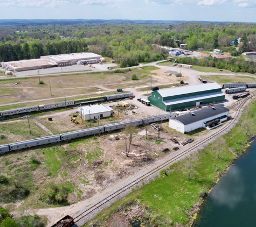
[[103,58],[99,54],[86,53],[86,52],[40,56],[40,59],[46,59],[48,61],[53,61],[59,67],[72,66],[72,65],[94,64],[94,63],[106,61],[105,58]]

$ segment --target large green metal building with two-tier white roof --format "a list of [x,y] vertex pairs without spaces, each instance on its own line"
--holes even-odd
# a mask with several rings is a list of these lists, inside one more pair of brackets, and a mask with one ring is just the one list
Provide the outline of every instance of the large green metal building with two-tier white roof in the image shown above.
[[152,91],[148,100],[162,110],[173,111],[225,101],[225,94],[219,84],[206,83]]

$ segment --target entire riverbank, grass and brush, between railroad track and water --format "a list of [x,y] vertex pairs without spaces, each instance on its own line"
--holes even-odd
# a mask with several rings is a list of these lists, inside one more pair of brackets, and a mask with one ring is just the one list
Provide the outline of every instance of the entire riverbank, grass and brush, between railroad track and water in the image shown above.
[[230,132],[196,155],[161,171],[155,181],[112,204],[85,226],[111,226],[113,218],[122,221],[121,217],[143,223],[136,226],[192,224],[200,202],[244,151],[255,132],[255,110],[256,103],[251,102]]

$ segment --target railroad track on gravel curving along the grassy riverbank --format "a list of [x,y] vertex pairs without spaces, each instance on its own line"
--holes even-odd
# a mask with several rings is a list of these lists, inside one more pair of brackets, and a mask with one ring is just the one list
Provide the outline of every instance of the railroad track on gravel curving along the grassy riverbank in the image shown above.
[[209,141],[210,139],[215,138],[220,133],[222,133],[223,131],[228,129],[229,126],[232,125],[236,121],[236,119],[238,118],[239,113],[241,111],[241,108],[243,108],[244,104],[248,100],[250,100],[250,98],[254,97],[255,95],[256,95],[256,91],[254,93],[251,93],[250,96],[244,98],[241,102],[236,103],[234,105],[231,105],[230,108],[234,109],[236,111],[236,113],[233,116],[233,119],[230,120],[230,122],[228,122],[227,124],[225,124],[219,131],[217,131],[216,133],[210,135],[209,137],[205,138],[204,140],[198,141],[196,144],[193,144],[191,147],[189,147],[188,149],[184,150],[183,152],[175,155],[174,157],[170,158],[168,161],[165,161],[163,164],[158,165],[157,167],[155,167],[154,169],[152,169],[148,173],[146,173],[146,174],[140,176],[139,178],[137,178],[136,180],[128,183],[126,186],[116,190],[114,193],[112,193],[110,195],[107,195],[105,198],[103,198],[98,203],[91,205],[91,207],[88,207],[81,214],[79,214],[78,216],[74,217],[75,224],[77,224],[78,226],[81,226],[82,224],[86,223],[87,221],[92,219],[94,216],[96,216],[96,214],[95,214],[96,212],[95,211],[100,212],[101,210],[106,208],[108,205],[112,204],[115,200],[117,200],[117,198],[119,198],[119,196],[121,197],[122,194],[123,195],[126,194],[128,190],[131,190],[136,185],[139,185],[139,183],[142,183],[143,180],[146,180],[150,176],[154,176],[154,174],[156,174],[161,169],[170,166],[176,160],[184,157],[184,155],[186,155],[189,152],[191,152],[192,150],[198,148],[200,145],[203,145],[205,143],[205,141]]

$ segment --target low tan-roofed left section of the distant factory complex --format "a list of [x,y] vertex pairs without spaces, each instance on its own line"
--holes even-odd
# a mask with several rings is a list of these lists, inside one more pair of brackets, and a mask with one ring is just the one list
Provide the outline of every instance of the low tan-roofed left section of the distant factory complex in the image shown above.
[[50,68],[55,64],[55,62],[47,61],[46,59],[29,59],[22,61],[8,61],[2,63],[5,68],[9,68],[16,72],[32,69]]

